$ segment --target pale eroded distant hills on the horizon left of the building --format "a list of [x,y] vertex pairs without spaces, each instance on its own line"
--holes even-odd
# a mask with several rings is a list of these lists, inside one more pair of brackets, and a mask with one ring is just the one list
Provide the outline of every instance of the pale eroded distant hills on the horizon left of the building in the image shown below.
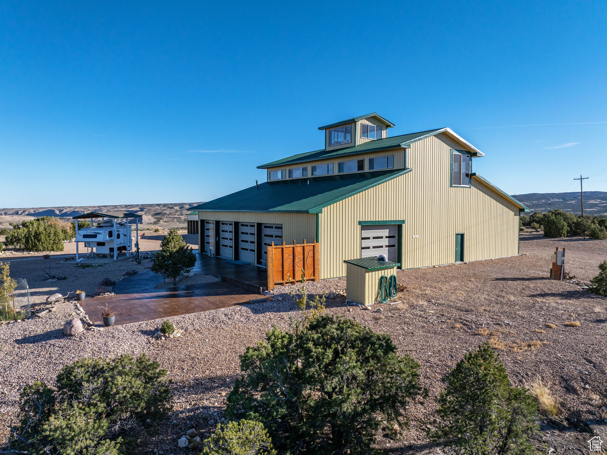
[[[0,208],[0,216],[20,218],[24,216],[56,216],[71,218],[91,211],[130,211],[143,216],[144,224],[180,222],[185,225],[185,215],[190,207],[202,202],[178,202],[177,204],[125,204],[125,205],[88,205],[84,207],[34,207]],[[7,219],[8,221],[8,219]],[[12,219],[10,221],[13,221]]]

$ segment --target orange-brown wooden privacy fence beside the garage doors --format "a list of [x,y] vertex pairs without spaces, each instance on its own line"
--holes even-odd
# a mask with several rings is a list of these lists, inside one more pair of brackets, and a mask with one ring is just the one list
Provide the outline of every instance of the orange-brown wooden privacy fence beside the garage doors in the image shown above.
[[268,290],[282,284],[301,282],[302,269],[306,281],[320,279],[320,244],[268,246]]

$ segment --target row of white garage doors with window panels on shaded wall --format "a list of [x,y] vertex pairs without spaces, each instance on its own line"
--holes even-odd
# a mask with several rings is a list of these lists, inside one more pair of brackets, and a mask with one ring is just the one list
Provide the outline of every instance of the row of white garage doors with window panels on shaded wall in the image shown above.
[[212,220],[204,220],[201,224],[204,225],[205,253],[209,255],[266,265],[266,246],[272,242],[282,244],[282,224]]

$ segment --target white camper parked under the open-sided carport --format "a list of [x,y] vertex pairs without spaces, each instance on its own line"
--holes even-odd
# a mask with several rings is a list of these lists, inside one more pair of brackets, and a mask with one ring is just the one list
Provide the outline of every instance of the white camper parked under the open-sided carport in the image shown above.
[[[135,251],[139,251],[139,220],[141,215],[130,212],[90,212],[73,217],[76,220],[76,261],[80,259],[78,245],[84,242],[87,259],[111,258],[119,255],[132,255],[133,240],[131,227],[135,222],[137,231]],[[95,225],[93,219],[101,218],[101,224]],[[129,218],[131,222],[129,223]],[[78,228],[79,219],[90,219],[90,226]]]

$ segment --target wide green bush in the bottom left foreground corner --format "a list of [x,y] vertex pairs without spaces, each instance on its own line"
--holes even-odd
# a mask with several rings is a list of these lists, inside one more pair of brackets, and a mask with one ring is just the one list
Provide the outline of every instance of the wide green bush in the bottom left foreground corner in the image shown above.
[[135,453],[141,430],[171,411],[169,381],[159,367],[145,355],[83,358],[61,369],[56,389],[41,382],[25,387],[20,424],[5,453]]

